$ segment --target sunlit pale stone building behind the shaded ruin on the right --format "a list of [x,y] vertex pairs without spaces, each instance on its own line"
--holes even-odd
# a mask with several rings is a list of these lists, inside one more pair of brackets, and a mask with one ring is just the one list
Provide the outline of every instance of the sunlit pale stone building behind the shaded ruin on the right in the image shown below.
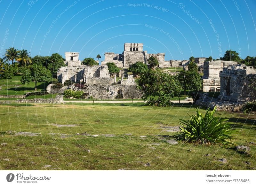
[[236,64],[236,61],[205,61],[202,78],[203,92],[220,92],[220,72],[223,68]]

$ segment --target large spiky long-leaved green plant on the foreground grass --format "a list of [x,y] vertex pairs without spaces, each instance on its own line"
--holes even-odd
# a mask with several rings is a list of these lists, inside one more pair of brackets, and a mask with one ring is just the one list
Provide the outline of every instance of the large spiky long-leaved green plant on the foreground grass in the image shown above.
[[175,135],[177,139],[186,142],[194,142],[199,144],[215,143],[218,145],[237,145],[230,140],[232,135],[239,134],[236,130],[232,130],[227,118],[214,117],[216,106],[210,112],[208,108],[205,114],[196,109],[196,114],[190,116],[189,120],[181,120],[180,134]]

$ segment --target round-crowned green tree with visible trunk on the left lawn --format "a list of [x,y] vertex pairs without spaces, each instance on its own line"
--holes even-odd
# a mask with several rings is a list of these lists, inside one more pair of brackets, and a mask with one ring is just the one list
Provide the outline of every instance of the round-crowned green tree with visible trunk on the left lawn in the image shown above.
[[25,84],[31,81],[35,82],[35,91],[37,89],[37,82],[49,82],[52,80],[51,71],[41,65],[32,65],[31,69],[24,69],[20,82]]

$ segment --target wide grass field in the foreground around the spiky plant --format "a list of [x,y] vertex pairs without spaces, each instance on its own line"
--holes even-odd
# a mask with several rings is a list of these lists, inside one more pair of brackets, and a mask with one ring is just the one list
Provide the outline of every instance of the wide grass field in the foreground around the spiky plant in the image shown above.
[[[179,126],[179,119],[188,119],[188,114],[195,113],[194,107],[184,104],[167,108],[142,105],[0,105],[0,141],[7,143],[0,146],[0,169],[256,169],[256,145],[249,143],[256,143],[255,115],[216,114],[228,117],[234,128],[241,132],[236,137],[242,140],[237,139],[236,143],[250,146],[250,154],[240,154],[233,148],[225,149],[218,145],[184,144],[180,141],[179,144],[170,145],[162,138],[164,135],[167,139],[172,138],[176,132],[164,131],[164,127]],[[8,130],[40,135],[15,136],[6,134]],[[98,136],[76,135],[85,132]],[[107,134],[115,136],[105,136]],[[227,163],[220,162],[222,158],[227,159]],[[51,167],[44,168],[45,165]]]

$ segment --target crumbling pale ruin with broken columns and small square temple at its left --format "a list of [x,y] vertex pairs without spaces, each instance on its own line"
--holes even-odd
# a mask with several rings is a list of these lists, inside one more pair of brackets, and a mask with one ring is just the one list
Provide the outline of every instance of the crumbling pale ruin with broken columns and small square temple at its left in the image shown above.
[[[124,79],[125,73],[121,74],[121,80],[116,81],[116,75],[113,74],[114,78],[110,77],[108,66],[106,65],[95,65],[85,66],[81,65],[78,52],[65,52],[66,65],[60,67],[57,72],[58,81],[64,84],[65,81],[69,80],[73,83],[84,84],[84,93],[88,97],[94,97],[98,99],[115,99],[115,98],[140,98],[142,93],[137,89],[136,82],[133,75],[127,75],[128,79]],[[73,60],[71,60],[73,59]],[[50,87],[47,87],[50,89]],[[65,89],[77,88],[74,85],[64,87],[58,90],[58,93],[63,92]],[[55,92],[54,89],[48,90],[49,92]]]

